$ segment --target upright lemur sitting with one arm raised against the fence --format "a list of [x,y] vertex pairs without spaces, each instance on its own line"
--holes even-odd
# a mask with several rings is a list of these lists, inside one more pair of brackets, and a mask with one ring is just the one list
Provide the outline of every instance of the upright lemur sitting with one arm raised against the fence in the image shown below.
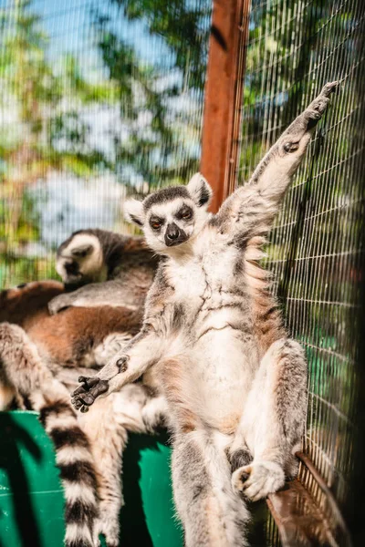
[[200,174],[187,187],[126,204],[162,262],[141,333],[96,377],[81,379],[73,404],[85,410],[149,368],[160,378],[188,547],[246,544],[239,494],[264,498],[297,470],[307,365],[301,346],[287,338],[257,260],[336,87],[322,89],[217,214],[206,211],[211,189]]

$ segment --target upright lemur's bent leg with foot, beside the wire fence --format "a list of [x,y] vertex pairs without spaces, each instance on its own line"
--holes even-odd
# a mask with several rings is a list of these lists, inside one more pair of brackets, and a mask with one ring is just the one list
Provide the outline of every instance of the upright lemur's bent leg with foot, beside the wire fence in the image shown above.
[[279,490],[297,470],[307,408],[307,364],[303,348],[280,339],[270,346],[257,371],[232,452],[244,443],[253,460],[232,476],[235,491],[253,501]]

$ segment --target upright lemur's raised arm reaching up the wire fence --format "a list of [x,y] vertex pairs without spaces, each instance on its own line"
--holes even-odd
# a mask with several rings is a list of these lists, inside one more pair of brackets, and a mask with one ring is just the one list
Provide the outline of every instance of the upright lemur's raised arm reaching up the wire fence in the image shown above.
[[328,107],[329,95],[337,87],[338,82],[326,84],[266,153],[248,183],[224,201],[217,215],[224,231],[244,235],[245,239],[269,232],[318,120]]

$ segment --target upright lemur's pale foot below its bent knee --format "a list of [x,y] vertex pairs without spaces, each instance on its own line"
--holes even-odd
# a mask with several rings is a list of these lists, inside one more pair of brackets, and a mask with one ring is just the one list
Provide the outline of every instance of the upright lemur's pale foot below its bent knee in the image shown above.
[[284,486],[285,474],[273,461],[253,461],[232,475],[232,487],[251,501],[266,498]]

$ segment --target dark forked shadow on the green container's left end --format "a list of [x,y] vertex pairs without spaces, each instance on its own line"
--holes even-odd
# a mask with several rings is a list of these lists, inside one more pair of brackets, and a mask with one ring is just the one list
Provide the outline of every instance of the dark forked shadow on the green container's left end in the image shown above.
[[[0,415],[0,431],[2,438],[0,468],[5,470],[9,479],[16,526],[21,542],[23,547],[38,547],[41,545],[40,535],[19,447],[22,445],[36,461],[40,461],[41,451],[26,429],[21,428],[10,414],[2,413]],[[4,514],[0,514],[0,518],[4,517]]]

